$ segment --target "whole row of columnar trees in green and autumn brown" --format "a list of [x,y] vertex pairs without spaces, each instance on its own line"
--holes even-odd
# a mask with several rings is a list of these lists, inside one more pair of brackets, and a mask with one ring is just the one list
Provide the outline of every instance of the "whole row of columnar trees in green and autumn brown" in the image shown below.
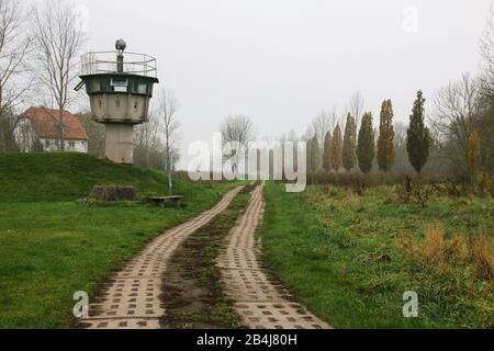
[[[431,138],[425,125],[425,99],[422,91],[417,92],[407,129],[406,149],[408,160],[419,173],[429,157]],[[357,166],[363,173],[369,173],[377,159],[379,169],[389,172],[395,161],[395,143],[393,125],[393,105],[385,100],[381,106],[379,136],[375,139],[373,117],[371,112],[363,114],[360,129],[357,133],[356,118],[349,113],[343,134],[339,124],[333,134],[328,132],[324,139],[323,150],[315,135],[307,140],[307,170],[315,173],[318,169],[321,151],[323,151],[323,168],[325,171],[339,171],[344,168],[351,171]]]

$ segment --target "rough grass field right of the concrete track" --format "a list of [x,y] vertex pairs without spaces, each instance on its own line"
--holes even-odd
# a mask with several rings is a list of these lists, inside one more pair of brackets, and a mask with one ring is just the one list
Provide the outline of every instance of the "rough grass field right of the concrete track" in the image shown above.
[[[363,196],[266,189],[266,262],[336,328],[493,328],[492,197],[435,195],[403,204],[392,186]],[[403,294],[418,294],[418,318]]]

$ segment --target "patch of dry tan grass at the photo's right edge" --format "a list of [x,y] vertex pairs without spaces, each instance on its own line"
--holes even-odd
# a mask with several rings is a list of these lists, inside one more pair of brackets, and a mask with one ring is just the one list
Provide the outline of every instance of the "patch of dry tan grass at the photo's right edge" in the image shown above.
[[453,235],[445,238],[445,230],[439,225],[426,229],[425,239],[413,245],[400,240],[398,247],[406,253],[417,257],[428,264],[438,267],[442,272],[457,265],[470,265],[479,279],[494,279],[494,246],[493,239],[481,236],[462,238]]

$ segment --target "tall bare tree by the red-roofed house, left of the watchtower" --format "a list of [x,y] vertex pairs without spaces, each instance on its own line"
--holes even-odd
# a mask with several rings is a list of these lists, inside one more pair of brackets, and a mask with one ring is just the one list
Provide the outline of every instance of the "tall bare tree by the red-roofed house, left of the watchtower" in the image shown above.
[[48,91],[58,110],[58,148],[65,149],[64,110],[72,102],[72,83],[77,78],[78,54],[83,36],[70,2],[49,0],[43,7],[33,5],[36,78]]

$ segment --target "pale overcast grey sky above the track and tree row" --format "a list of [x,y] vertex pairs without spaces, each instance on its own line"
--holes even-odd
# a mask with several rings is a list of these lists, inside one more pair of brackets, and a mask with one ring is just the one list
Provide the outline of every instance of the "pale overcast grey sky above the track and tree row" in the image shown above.
[[76,0],[89,11],[87,49],[113,49],[123,37],[127,50],[157,57],[161,84],[181,103],[182,166],[188,145],[209,141],[228,114],[250,116],[261,136],[302,134],[319,110],[343,112],[360,90],[374,116],[392,99],[406,122],[417,89],[430,98],[478,72],[492,3]]

